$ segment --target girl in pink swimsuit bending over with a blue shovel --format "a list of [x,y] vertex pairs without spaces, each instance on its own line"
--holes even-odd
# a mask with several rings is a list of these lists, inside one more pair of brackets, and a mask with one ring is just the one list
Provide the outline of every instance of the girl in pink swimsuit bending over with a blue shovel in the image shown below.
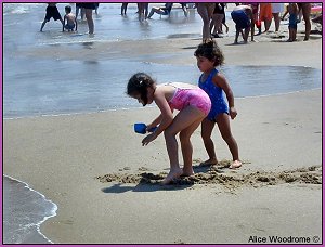
[[[208,94],[194,84],[181,82],[156,84],[144,73],[138,73],[130,78],[127,93],[136,99],[143,106],[155,102],[161,112],[156,119],[147,125],[147,130],[156,126],[158,128],[142,140],[142,145],[147,145],[164,132],[170,171],[162,184],[168,184],[181,176],[194,174],[192,167],[193,147],[190,138],[211,108]],[[173,117],[173,109],[179,110],[176,117]],[[180,133],[183,154],[183,169],[180,168],[179,162],[176,139],[178,133]]]

